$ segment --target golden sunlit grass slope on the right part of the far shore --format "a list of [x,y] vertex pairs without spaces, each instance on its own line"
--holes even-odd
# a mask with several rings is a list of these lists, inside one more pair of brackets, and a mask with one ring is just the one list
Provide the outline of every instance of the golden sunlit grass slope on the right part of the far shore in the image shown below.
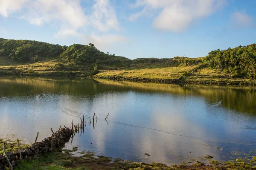
[[96,79],[119,79],[141,82],[189,83],[217,85],[256,85],[256,80],[234,78],[231,74],[210,68],[176,66],[166,68],[145,68],[122,71],[100,71],[93,76]]

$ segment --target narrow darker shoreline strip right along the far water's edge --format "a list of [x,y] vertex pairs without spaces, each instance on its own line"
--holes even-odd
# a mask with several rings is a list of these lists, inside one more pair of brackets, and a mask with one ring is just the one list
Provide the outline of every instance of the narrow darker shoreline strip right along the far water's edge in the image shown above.
[[[0,72],[1,73],[1,72]],[[90,79],[106,79],[114,81],[128,81],[128,82],[144,82],[144,83],[157,83],[157,84],[174,84],[174,85],[218,85],[218,86],[248,86],[255,87],[256,80],[253,79],[241,79],[241,78],[219,78],[219,79],[201,79],[182,77],[177,79],[169,78],[147,78],[147,77],[122,77],[122,76],[101,76],[93,75],[89,73],[77,74],[76,72],[69,71],[56,71],[46,73],[23,73],[23,74],[0,74],[0,77],[52,77],[52,78],[90,78]]]

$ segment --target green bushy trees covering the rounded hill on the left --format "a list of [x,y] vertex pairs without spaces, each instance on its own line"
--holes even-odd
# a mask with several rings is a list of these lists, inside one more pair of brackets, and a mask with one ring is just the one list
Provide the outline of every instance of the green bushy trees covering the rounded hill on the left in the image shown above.
[[8,56],[12,61],[38,62],[45,59],[58,59],[73,65],[126,65],[130,59],[105,54],[93,44],[73,44],[69,47],[30,40],[0,39],[0,56]]

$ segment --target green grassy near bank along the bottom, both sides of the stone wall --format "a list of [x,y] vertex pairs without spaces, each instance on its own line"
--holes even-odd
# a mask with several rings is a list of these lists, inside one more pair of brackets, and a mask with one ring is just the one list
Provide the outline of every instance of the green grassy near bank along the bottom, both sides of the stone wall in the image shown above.
[[[3,139],[0,139],[3,143]],[[6,141],[7,151],[14,152],[17,145],[14,141]],[[21,144],[21,148],[28,145]],[[9,148],[9,150],[8,150]],[[0,148],[0,153],[3,148]],[[77,155],[78,153],[78,155]],[[75,154],[75,155],[74,155]],[[195,159],[179,165],[173,164],[167,166],[161,163],[145,164],[143,162],[125,161],[122,159],[112,159],[106,156],[95,155],[91,151],[78,152],[77,148],[73,150],[58,149],[51,153],[41,154],[35,159],[26,159],[19,162],[15,166],[15,170],[248,170],[256,169],[256,157],[250,156],[244,159],[236,159],[235,161],[215,161],[213,159],[203,159],[209,162],[208,165],[201,163]]]

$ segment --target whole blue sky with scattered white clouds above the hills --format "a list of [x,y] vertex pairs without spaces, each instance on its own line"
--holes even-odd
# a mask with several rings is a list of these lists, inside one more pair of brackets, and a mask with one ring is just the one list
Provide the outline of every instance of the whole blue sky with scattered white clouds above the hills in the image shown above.
[[256,0],[0,0],[0,37],[95,44],[130,59],[256,43]]

